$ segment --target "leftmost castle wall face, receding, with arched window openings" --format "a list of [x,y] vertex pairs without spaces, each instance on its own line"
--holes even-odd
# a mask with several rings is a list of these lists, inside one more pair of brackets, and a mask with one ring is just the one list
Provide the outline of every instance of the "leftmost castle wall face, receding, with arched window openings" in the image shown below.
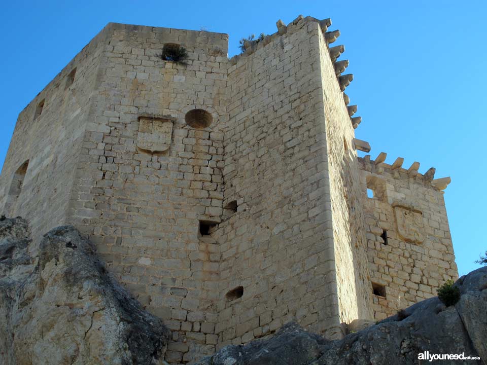
[[[20,113],[0,175],[0,210],[21,215],[33,237],[66,222],[103,43],[100,32]],[[73,70],[76,74],[73,78]],[[71,75],[69,75],[71,73]],[[71,83],[72,82],[72,83]],[[40,115],[38,105],[44,101]],[[28,161],[18,195],[17,169]],[[10,194],[14,191],[15,194]],[[18,197],[16,197],[18,195]]]

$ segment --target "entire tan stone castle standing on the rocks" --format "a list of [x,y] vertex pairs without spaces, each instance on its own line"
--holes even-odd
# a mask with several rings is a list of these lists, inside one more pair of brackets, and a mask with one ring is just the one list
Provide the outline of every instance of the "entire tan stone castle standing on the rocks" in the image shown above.
[[[449,178],[357,156],[330,24],[279,21],[231,59],[227,34],[108,24],[20,113],[0,211],[89,235],[173,363],[436,295],[458,275]],[[185,64],[160,57],[181,45]]]

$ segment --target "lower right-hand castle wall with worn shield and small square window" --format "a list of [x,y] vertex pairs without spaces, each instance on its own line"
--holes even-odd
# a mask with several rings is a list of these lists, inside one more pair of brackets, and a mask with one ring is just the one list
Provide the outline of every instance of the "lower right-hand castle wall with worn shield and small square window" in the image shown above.
[[[443,192],[422,174],[376,165],[370,156],[360,159],[360,167],[371,282],[385,289],[385,297],[373,296],[380,320],[436,296],[441,284],[458,278],[458,270]],[[375,190],[373,198],[367,186]]]

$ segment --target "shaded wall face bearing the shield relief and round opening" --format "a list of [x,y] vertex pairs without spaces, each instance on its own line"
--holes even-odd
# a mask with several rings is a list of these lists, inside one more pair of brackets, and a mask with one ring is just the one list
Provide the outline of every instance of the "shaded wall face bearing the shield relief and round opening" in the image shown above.
[[[89,234],[112,273],[173,331],[166,361],[213,353],[219,247],[199,220],[220,221],[228,67],[226,34],[110,24],[68,221]],[[187,64],[159,57],[184,44]],[[192,108],[213,116],[194,129]],[[138,141],[141,116],[168,120],[166,151]]]

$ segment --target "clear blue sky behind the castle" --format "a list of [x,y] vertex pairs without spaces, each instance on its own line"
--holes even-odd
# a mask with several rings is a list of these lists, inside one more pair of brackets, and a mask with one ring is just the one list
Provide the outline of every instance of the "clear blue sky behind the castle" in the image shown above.
[[[485,1],[43,1],[5,2],[0,14],[0,164],[18,113],[108,22],[230,34],[230,55],[251,33],[273,33],[299,14],[331,18],[354,81],[357,137],[372,157],[436,167],[460,275],[487,249],[482,128],[487,98]],[[42,136],[39,136],[42,138]],[[0,165],[1,166],[1,165]]]

